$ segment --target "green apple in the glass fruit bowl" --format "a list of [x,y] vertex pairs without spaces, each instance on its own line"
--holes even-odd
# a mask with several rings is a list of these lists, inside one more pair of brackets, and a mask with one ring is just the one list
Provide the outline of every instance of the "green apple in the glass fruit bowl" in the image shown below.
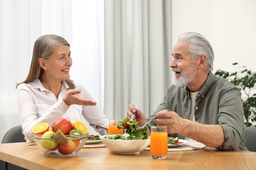
[[58,143],[55,141],[55,132],[46,131],[43,133],[41,136],[40,144],[47,150],[55,150],[58,146]]

